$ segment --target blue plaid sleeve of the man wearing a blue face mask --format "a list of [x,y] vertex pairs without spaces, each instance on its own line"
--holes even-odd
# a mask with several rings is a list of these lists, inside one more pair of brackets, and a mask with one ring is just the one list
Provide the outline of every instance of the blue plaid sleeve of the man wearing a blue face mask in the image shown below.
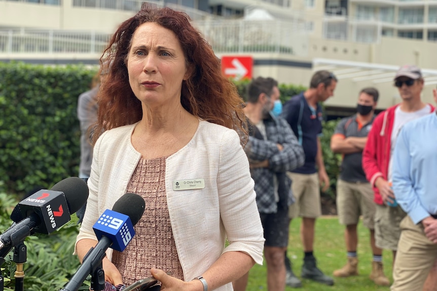
[[279,129],[282,131],[283,149],[269,158],[269,168],[274,172],[293,171],[305,163],[305,153],[287,121],[278,118]]

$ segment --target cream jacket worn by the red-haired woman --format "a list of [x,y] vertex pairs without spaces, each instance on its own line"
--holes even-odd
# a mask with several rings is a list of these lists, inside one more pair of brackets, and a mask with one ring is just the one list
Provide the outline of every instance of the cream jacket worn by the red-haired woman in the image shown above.
[[[135,126],[107,131],[97,140],[77,241],[97,240],[93,224],[126,193],[141,157],[131,144]],[[189,179],[204,179],[205,188],[173,190],[173,182]],[[237,133],[207,121],[200,121],[192,140],[166,159],[168,212],[186,281],[201,275],[224,252],[241,251],[262,264],[264,236],[253,185]],[[107,257],[111,259],[111,249]],[[216,290],[232,290],[232,284]]]

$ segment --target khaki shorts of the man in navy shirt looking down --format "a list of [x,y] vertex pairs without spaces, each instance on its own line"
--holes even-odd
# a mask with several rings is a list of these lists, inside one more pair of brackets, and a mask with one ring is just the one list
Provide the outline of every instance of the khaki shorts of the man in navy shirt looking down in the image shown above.
[[287,172],[292,179],[292,191],[296,202],[290,205],[288,217],[316,218],[322,213],[320,204],[320,185],[317,173],[297,174]]

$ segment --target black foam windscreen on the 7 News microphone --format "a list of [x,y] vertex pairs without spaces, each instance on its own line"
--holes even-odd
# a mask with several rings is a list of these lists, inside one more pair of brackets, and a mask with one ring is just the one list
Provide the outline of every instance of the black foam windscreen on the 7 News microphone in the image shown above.
[[64,192],[70,214],[74,214],[88,199],[88,185],[78,177],[69,177],[56,183],[50,190]]

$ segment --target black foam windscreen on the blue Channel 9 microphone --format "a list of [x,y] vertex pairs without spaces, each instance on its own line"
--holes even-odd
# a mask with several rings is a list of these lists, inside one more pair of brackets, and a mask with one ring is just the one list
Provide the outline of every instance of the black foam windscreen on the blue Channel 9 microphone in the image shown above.
[[135,193],[126,193],[114,204],[112,210],[129,216],[132,225],[135,225],[144,213],[145,201]]

